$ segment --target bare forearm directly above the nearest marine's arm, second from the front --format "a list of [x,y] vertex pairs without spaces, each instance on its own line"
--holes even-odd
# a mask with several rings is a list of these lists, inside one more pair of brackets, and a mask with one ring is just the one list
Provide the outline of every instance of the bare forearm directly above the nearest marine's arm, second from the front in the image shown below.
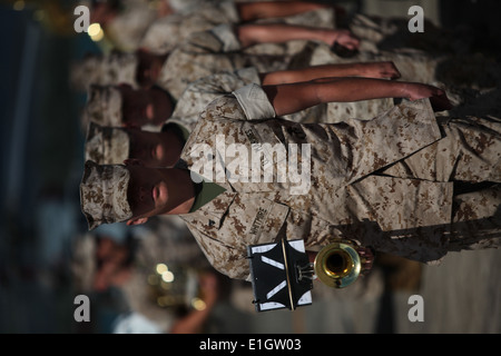
[[393,62],[323,65],[296,70],[279,70],[261,73],[263,86],[287,82],[310,81],[327,77],[367,77],[400,78],[400,72]]

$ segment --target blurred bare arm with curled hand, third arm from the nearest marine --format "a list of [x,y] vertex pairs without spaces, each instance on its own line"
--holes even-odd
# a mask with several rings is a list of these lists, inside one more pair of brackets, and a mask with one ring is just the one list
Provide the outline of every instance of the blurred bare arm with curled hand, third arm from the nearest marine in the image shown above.
[[282,43],[291,40],[316,40],[328,46],[338,42],[347,49],[358,48],[358,39],[348,30],[332,30],[285,23],[242,24],[236,34],[243,48],[257,43]]

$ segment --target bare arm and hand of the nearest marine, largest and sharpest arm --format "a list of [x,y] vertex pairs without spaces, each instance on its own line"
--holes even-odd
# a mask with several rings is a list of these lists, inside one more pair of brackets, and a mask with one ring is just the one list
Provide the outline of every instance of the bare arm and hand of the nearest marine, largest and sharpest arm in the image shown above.
[[322,78],[307,82],[264,86],[263,90],[277,116],[297,112],[324,102],[350,102],[382,98],[407,98],[410,100],[435,98],[438,99],[436,103],[450,108],[442,89],[422,83],[383,79]]

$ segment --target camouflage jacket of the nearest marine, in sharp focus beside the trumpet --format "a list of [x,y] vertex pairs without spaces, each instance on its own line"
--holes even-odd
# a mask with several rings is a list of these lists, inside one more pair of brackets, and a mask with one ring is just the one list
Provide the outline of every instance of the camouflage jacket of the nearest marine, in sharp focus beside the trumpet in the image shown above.
[[[418,260],[443,256],[452,184],[377,175],[441,139],[428,100],[395,106],[373,120],[343,123],[296,123],[274,116],[261,87],[244,87],[207,107],[181,154],[188,169],[226,188],[180,216],[216,269],[246,279],[246,246],[283,237],[302,238],[307,249],[350,238]],[[224,151],[232,144],[242,144],[249,156],[264,152],[261,179],[253,180],[252,171],[246,181],[245,160],[233,170],[234,161]],[[302,176],[279,180],[277,175],[267,182],[265,172],[277,172],[284,160],[269,157],[264,144],[288,147],[288,168],[294,160],[301,162]],[[202,171],[204,159],[220,166]],[[238,179],[232,179],[235,174]]]

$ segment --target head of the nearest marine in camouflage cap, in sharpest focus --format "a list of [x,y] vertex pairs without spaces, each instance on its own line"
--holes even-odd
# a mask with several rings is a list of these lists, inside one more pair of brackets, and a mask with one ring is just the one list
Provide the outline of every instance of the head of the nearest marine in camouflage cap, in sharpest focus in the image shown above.
[[[177,197],[184,189],[171,179],[174,170],[145,167],[137,160],[125,165],[86,161],[80,206],[89,229],[119,221],[144,224],[150,217],[171,211],[178,206]],[[193,186],[190,180],[184,184]]]

